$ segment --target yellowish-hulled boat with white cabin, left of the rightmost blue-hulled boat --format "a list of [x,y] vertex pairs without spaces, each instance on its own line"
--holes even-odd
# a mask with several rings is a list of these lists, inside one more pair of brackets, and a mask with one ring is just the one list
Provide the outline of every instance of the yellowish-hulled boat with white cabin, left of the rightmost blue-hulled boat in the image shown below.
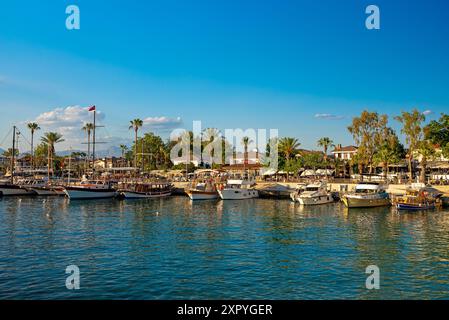
[[355,191],[342,196],[348,208],[370,208],[391,205],[390,196],[379,182],[361,182]]

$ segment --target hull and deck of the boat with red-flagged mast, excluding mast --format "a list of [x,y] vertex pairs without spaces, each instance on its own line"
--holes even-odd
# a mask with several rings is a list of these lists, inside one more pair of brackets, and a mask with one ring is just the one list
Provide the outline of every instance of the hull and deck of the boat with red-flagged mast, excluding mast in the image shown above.
[[103,181],[82,181],[78,185],[64,187],[64,193],[72,200],[114,198],[117,191]]

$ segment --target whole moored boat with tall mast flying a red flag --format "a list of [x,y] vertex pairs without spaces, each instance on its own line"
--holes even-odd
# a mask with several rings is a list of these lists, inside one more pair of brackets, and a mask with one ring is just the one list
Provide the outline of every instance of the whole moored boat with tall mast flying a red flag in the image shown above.
[[[88,109],[89,112],[94,113],[94,128],[93,128],[93,140],[92,140],[92,170],[95,176],[95,130],[96,130],[96,106],[91,106]],[[64,193],[72,200],[88,200],[88,199],[107,199],[117,196],[117,190],[115,190],[111,183],[100,180],[87,180],[85,179],[79,184],[68,185],[64,188]]]

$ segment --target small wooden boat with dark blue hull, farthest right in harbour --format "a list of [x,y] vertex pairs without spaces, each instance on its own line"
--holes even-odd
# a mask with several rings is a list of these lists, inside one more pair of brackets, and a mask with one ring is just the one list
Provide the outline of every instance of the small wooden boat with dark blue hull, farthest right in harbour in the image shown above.
[[421,211],[440,208],[443,205],[441,196],[443,194],[430,187],[408,188],[406,194],[394,200],[398,210]]

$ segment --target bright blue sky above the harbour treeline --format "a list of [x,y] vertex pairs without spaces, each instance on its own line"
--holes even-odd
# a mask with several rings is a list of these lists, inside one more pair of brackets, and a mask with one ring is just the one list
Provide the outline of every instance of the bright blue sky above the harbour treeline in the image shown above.
[[[80,30],[65,28],[69,4]],[[365,28],[369,4],[381,30]],[[132,139],[136,117],[164,135],[201,120],[278,128],[306,148],[351,144],[346,127],[365,108],[449,110],[448,39],[443,0],[2,1],[0,148],[29,120],[78,148],[89,119],[66,108],[91,104],[108,146]]]

